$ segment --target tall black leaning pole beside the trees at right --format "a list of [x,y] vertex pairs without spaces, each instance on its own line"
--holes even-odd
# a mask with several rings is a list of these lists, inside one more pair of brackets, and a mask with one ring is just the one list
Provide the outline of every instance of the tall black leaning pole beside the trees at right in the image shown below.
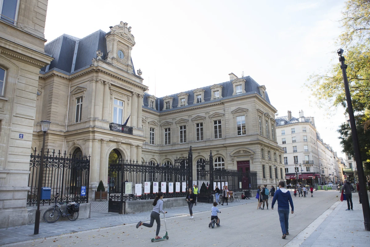
[[[356,166],[357,166],[357,174],[359,176],[359,186],[360,191],[362,193],[362,211],[364,214],[364,225],[365,230],[370,231],[370,208],[369,208],[369,197],[366,193],[366,184],[365,184],[365,174],[364,174],[364,168],[362,166],[362,160],[361,160],[361,153],[360,153],[360,147],[359,147],[359,139],[357,136],[357,128],[356,128],[356,121],[354,120],[353,115],[353,108],[352,108],[352,100],[351,100],[351,93],[349,91],[349,85],[348,85],[348,79],[347,79],[347,65],[344,64],[344,57],[342,56],[343,50],[338,50],[339,55],[339,61],[340,61],[340,68],[342,69],[343,74],[343,81],[344,81],[344,89],[346,90],[346,98],[347,98],[347,108],[348,108],[348,114],[349,114],[349,120],[351,123],[351,131],[352,131],[352,141],[353,141],[353,151],[354,151],[354,157],[356,159]],[[364,193],[365,192],[365,193]]]

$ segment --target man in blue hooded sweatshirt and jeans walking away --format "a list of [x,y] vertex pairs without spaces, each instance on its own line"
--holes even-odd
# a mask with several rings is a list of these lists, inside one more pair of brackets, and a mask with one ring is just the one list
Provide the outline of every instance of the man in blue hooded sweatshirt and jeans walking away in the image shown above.
[[294,206],[290,191],[285,188],[283,181],[279,182],[279,190],[276,190],[272,199],[271,209],[274,209],[274,204],[277,201],[277,213],[279,213],[280,227],[283,233],[282,238],[289,235],[289,204],[292,208],[291,213],[294,213]]

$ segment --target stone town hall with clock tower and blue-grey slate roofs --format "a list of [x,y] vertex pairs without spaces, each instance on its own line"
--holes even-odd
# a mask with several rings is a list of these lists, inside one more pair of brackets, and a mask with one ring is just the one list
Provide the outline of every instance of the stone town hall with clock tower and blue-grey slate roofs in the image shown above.
[[90,190],[100,180],[108,187],[112,154],[173,164],[190,146],[193,177],[210,150],[215,167],[257,171],[259,184],[275,184],[274,165],[277,178],[285,177],[265,86],[231,73],[229,81],[157,98],[134,69],[134,45],[121,22],[108,33],[63,34],[45,46],[54,60],[40,71],[33,147],[42,145],[38,123],[50,120],[47,148],[91,155]]

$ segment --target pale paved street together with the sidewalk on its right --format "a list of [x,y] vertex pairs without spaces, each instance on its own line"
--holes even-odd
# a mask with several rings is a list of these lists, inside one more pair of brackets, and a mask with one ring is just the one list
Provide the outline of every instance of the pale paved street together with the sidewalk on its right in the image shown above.
[[[167,218],[169,240],[160,244],[150,241],[155,235],[155,226],[135,228],[139,218],[148,219],[149,213],[140,213],[132,216],[137,218],[134,224],[69,233],[8,246],[115,246],[122,243],[124,246],[366,246],[370,234],[363,230],[362,208],[357,194],[353,198],[354,211],[350,212],[344,211],[346,203],[340,202],[339,196],[337,191],[315,191],[313,198],[293,197],[295,213],[290,215],[290,234],[285,240],[281,238],[277,205],[274,210],[263,211],[256,210],[256,203],[227,208],[221,206],[221,227],[212,229],[208,228],[211,205],[199,203],[194,207],[198,208],[196,210],[202,211],[201,208],[204,208],[208,211],[195,213],[193,220],[189,220],[188,215],[184,214],[186,211],[181,212],[180,208],[168,210],[168,216],[172,216]],[[75,221],[70,225],[77,223]],[[163,220],[161,223],[160,235],[163,235]]]

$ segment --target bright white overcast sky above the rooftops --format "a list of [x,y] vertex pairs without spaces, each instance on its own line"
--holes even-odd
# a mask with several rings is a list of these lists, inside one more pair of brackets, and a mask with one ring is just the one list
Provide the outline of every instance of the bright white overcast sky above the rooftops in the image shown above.
[[[250,76],[266,86],[279,116],[315,117],[317,131],[338,154],[343,109],[320,110],[303,86],[312,73],[340,64],[334,40],[343,0],[326,1],[49,1],[45,38],[83,38],[120,21],[131,26],[135,70],[162,97]],[[345,56],[345,54],[344,54]],[[339,155],[340,156],[340,155]],[[342,154],[344,157],[344,155]]]

